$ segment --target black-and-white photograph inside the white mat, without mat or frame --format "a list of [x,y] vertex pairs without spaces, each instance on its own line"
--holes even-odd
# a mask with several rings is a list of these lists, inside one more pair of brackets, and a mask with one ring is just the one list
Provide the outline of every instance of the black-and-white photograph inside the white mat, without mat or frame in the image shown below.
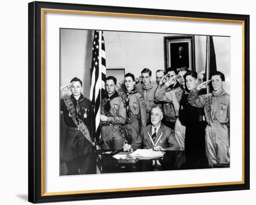
[[229,168],[230,40],[60,28],[60,175]]

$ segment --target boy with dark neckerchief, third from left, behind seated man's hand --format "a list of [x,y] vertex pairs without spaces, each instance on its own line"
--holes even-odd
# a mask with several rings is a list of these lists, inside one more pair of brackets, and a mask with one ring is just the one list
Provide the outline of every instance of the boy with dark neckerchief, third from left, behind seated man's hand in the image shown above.
[[140,130],[147,123],[147,114],[143,97],[137,92],[135,87],[135,77],[131,73],[125,75],[126,91],[122,95],[126,102],[127,118],[125,131],[128,143],[123,147],[124,151],[136,149],[135,142],[140,138]]

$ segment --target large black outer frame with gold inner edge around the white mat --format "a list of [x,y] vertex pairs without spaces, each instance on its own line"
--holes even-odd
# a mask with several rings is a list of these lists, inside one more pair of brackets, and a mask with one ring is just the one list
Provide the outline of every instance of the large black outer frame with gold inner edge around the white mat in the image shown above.
[[[188,19],[204,19],[210,21],[236,21],[243,25],[243,181],[242,183],[223,185],[202,185],[162,189],[46,194],[44,192],[44,74],[42,64],[41,44],[41,9],[56,9],[69,11],[108,12],[119,14],[138,14],[148,16],[182,17]],[[31,2],[28,4],[28,201],[32,203],[86,200],[86,199],[112,199],[123,197],[156,196],[167,194],[183,194],[198,192],[221,192],[231,190],[249,189],[249,15],[228,13],[204,13],[191,11],[175,11],[162,9],[145,9],[117,6],[96,6],[54,2]]]

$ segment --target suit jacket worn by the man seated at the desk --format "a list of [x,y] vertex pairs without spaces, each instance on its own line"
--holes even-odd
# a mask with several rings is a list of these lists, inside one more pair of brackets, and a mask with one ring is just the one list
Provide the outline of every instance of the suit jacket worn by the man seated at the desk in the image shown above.
[[[175,137],[174,137],[174,131],[163,124],[161,124],[157,132],[154,144],[152,143],[148,135],[150,135],[152,139],[151,124],[141,130],[141,143],[142,143],[143,149],[151,149],[153,147],[160,146],[165,150],[180,150],[178,142],[175,140]],[[139,146],[139,144],[140,143],[137,143],[138,145],[137,148],[141,147]]]

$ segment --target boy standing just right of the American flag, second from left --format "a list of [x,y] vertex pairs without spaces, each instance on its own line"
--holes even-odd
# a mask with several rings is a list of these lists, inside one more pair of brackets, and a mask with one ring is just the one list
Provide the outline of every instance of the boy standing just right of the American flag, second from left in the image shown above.
[[116,78],[106,78],[105,96],[101,99],[101,136],[103,149],[122,149],[125,144],[123,125],[126,121],[124,100],[115,90]]

